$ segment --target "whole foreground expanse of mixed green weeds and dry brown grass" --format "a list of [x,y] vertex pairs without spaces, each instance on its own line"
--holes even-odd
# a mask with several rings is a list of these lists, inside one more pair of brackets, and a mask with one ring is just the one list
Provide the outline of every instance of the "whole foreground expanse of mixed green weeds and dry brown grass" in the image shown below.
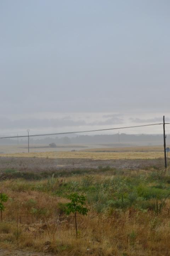
[[17,212],[34,214],[38,226],[39,215],[53,223],[63,214],[66,223],[67,215],[87,214],[88,208],[84,239],[50,239],[46,232],[43,240],[19,240],[19,248],[59,255],[169,255],[168,172],[165,175],[153,167],[133,172],[99,167],[33,176],[6,170],[4,175],[0,187],[8,201],[0,226],[1,243],[18,246]]

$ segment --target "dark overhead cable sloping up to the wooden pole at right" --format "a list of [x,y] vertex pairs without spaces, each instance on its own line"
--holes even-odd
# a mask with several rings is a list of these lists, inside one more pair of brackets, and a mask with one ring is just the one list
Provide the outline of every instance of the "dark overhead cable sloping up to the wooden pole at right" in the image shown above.
[[[160,124],[163,124],[163,123],[143,124],[143,125],[140,125],[140,126],[126,126],[126,127],[108,128],[108,129],[98,129],[98,130],[85,130],[85,131],[77,131],[77,132],[61,132],[61,133],[33,134],[33,135],[29,135],[29,137],[48,136],[48,135],[60,135],[60,134],[72,134],[72,133],[100,132],[100,131],[104,131],[104,130],[118,130],[118,129],[126,129],[126,128],[137,128],[137,127],[144,127],[144,126],[155,126],[155,125],[160,125]],[[166,123],[166,124],[169,124],[169,123]],[[28,135],[0,137],[0,139],[25,138],[25,137],[28,137]]]

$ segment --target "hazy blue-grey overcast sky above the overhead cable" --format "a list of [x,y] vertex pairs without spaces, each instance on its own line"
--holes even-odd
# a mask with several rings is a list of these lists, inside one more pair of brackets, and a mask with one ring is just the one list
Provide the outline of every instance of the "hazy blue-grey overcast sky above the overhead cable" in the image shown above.
[[0,0],[0,134],[168,121],[169,10],[169,0]]

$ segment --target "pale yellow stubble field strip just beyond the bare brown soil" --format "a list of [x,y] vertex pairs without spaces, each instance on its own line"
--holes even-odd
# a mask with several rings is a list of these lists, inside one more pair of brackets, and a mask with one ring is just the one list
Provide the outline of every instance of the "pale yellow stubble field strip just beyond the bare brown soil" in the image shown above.
[[[92,145],[94,146],[94,145]],[[98,145],[97,145],[98,146]],[[88,148],[71,151],[70,148],[54,148],[47,150],[33,150],[30,149],[30,153],[27,153],[27,149],[18,148],[16,151],[15,146],[6,146],[5,152],[1,152],[2,146],[0,147],[0,156],[13,156],[13,157],[29,157],[29,158],[51,158],[51,159],[91,159],[91,160],[112,160],[112,159],[155,159],[163,158],[164,151],[163,146],[132,146],[132,147],[116,147],[116,148]],[[37,152],[38,151],[38,152]],[[16,153],[18,152],[18,153]]]

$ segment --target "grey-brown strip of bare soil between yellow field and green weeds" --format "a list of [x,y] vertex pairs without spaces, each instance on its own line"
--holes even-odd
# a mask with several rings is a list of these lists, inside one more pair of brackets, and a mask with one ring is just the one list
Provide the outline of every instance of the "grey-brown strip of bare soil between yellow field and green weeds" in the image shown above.
[[0,171],[16,169],[18,171],[56,171],[73,169],[94,169],[99,166],[122,168],[122,169],[143,169],[147,166],[164,167],[164,159],[117,159],[117,160],[91,160],[91,159],[47,159],[47,158],[20,158],[0,157]]

